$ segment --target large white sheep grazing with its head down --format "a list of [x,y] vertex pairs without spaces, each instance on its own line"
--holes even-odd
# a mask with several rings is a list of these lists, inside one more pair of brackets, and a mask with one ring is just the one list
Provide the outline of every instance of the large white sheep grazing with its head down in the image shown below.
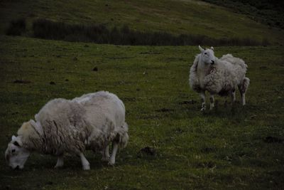
[[[35,121],[24,122],[13,136],[5,159],[13,169],[23,166],[31,152],[58,157],[55,167],[63,166],[63,154],[80,156],[83,169],[89,169],[85,149],[102,151],[103,160],[115,163],[119,147],[126,147],[129,136],[124,103],[108,92],[89,93],[73,100],[50,100],[35,115]],[[112,154],[109,157],[109,143]]]

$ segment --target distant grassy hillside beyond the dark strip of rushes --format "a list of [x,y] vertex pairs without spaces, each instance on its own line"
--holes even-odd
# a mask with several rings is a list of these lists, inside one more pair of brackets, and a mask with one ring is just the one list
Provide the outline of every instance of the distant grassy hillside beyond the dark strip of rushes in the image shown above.
[[250,37],[272,43],[284,43],[283,30],[268,28],[246,16],[202,1],[44,1],[18,0],[0,3],[0,31],[9,21],[28,18],[28,27],[36,18],[67,23],[106,23],[108,26],[127,24],[142,31],[204,34],[214,38]]

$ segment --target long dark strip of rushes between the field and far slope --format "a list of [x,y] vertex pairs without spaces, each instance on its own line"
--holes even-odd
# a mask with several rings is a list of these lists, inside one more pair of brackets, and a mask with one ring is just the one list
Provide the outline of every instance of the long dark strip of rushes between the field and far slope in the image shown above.
[[266,39],[255,41],[251,38],[210,38],[204,35],[180,34],[160,31],[135,31],[128,26],[108,28],[104,24],[78,25],[38,19],[33,22],[35,38],[62,41],[81,41],[132,46],[185,46],[207,44],[214,46],[259,46],[268,45]]

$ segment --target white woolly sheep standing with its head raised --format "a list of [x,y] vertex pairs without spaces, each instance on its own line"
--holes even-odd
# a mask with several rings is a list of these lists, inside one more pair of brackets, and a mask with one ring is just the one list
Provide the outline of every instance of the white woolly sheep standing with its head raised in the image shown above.
[[210,93],[210,110],[214,107],[214,95],[231,95],[231,101],[236,99],[236,85],[241,93],[242,104],[246,104],[245,94],[249,88],[249,78],[246,78],[247,65],[244,60],[234,58],[231,54],[218,59],[214,56],[214,48],[203,49],[195,57],[190,68],[190,87],[202,98],[202,111],[206,109],[205,91]]

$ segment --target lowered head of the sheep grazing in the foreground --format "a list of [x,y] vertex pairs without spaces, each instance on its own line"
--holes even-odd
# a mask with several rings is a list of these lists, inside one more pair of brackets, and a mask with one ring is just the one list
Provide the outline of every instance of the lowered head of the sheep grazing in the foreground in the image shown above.
[[30,152],[22,147],[21,138],[12,137],[5,152],[5,159],[12,169],[23,169]]

